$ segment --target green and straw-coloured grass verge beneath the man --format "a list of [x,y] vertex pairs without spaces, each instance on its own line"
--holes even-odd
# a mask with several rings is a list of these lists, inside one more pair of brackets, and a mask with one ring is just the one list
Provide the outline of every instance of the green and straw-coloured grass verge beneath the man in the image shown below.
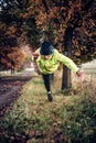
[[72,89],[61,92],[60,88],[61,77],[52,84],[54,101],[49,102],[41,76],[26,82],[13,108],[0,119],[1,138],[28,136],[28,143],[95,143],[96,100],[92,81],[81,82],[74,77]]

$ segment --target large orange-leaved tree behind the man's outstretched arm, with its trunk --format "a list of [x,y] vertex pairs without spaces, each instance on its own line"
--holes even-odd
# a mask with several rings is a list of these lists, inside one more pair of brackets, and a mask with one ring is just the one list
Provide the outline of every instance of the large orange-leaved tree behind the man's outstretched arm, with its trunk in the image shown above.
[[[82,55],[93,55],[95,51],[95,0],[42,0],[33,1],[35,8],[32,13],[35,15],[36,25],[40,29],[54,29],[55,45],[61,42],[64,46],[64,54],[68,56],[73,53],[78,54],[82,61]],[[60,37],[62,37],[60,40]],[[73,43],[73,45],[72,45]],[[72,46],[71,46],[72,45]],[[74,48],[72,48],[74,47]],[[87,58],[88,59],[88,58]],[[64,68],[63,73],[66,73]],[[71,75],[64,74],[62,89],[71,87]]]

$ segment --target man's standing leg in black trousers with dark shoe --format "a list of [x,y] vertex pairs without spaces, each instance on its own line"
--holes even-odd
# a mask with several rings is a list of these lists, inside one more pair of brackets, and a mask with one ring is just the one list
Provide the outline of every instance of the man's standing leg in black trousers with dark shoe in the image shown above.
[[52,101],[53,98],[52,98],[52,95],[51,95],[50,75],[44,75],[44,74],[42,74],[42,77],[43,77],[43,80],[44,80],[45,89],[46,89],[46,91],[47,91],[49,101]]

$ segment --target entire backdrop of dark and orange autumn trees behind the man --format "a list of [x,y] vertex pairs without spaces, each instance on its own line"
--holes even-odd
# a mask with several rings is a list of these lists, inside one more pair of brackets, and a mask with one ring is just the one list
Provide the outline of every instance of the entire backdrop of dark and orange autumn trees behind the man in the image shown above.
[[[95,0],[1,0],[0,2],[0,68],[19,69],[25,62],[22,45],[31,51],[40,46],[41,32],[47,30],[55,48],[73,58],[77,65],[96,57]],[[71,74],[64,67],[65,84]],[[63,79],[64,80],[64,79]]]

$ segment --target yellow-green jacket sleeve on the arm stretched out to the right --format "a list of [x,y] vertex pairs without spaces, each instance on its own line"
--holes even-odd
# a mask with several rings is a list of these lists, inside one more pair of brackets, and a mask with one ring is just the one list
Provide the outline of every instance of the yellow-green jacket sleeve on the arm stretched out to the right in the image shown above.
[[78,70],[78,67],[71,58],[64,56],[63,54],[58,53],[57,51],[56,51],[56,57],[57,57],[58,62],[63,63],[72,72],[76,73]]

